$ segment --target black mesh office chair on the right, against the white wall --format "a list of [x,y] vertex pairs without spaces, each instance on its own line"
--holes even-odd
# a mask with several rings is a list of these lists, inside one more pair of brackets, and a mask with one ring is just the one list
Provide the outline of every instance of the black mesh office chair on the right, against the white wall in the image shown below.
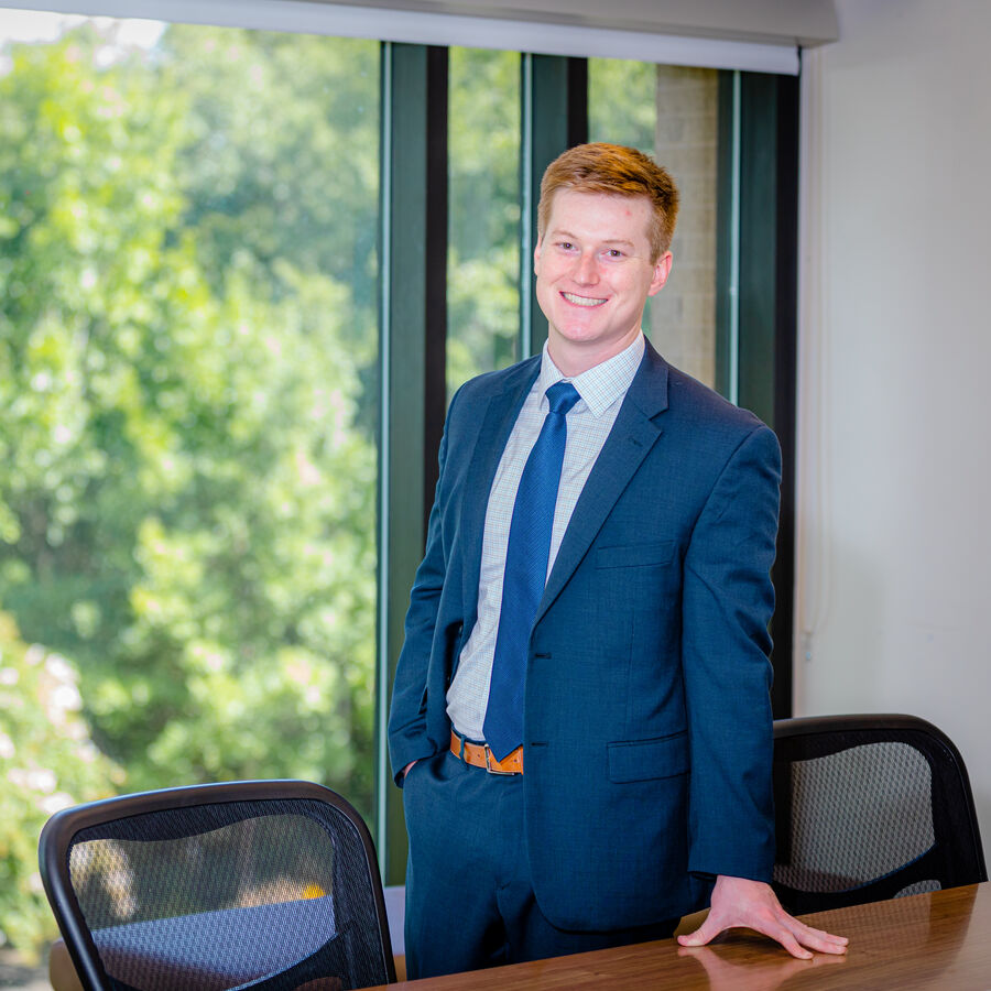
[[774,723],[773,886],[793,914],[987,881],[967,769],[913,716]]

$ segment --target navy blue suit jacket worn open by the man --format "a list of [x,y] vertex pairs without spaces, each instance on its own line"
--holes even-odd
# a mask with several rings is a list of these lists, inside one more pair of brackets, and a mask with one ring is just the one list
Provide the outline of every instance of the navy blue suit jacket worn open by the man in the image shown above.
[[[449,745],[489,490],[538,370],[481,375],[451,401],[389,721],[398,780]],[[647,344],[530,641],[524,839],[562,928],[683,915],[716,874],[770,880],[780,480],[774,434]]]

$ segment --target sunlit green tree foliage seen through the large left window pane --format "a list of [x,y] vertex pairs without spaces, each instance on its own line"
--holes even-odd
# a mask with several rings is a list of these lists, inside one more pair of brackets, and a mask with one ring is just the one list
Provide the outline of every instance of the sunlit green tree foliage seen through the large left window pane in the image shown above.
[[[128,57],[89,29],[13,51],[0,649],[57,652],[100,755],[48,720],[45,761],[0,711],[0,773],[12,747],[74,801],[301,776],[370,814],[375,57],[181,28]],[[4,815],[31,846],[0,834],[8,876],[34,873],[33,808]]]

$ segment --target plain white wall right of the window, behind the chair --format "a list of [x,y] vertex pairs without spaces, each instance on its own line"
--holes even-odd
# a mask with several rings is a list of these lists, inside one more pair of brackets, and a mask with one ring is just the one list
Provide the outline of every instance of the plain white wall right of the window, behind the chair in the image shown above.
[[837,8],[803,69],[796,715],[935,722],[991,852],[991,3]]

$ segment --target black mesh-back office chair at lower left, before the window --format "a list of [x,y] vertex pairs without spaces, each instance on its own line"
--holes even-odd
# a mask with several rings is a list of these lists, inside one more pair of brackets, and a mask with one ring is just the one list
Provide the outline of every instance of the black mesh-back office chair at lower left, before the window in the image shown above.
[[374,847],[298,781],[124,795],[56,813],[45,892],[92,991],[336,991],[395,981]]

